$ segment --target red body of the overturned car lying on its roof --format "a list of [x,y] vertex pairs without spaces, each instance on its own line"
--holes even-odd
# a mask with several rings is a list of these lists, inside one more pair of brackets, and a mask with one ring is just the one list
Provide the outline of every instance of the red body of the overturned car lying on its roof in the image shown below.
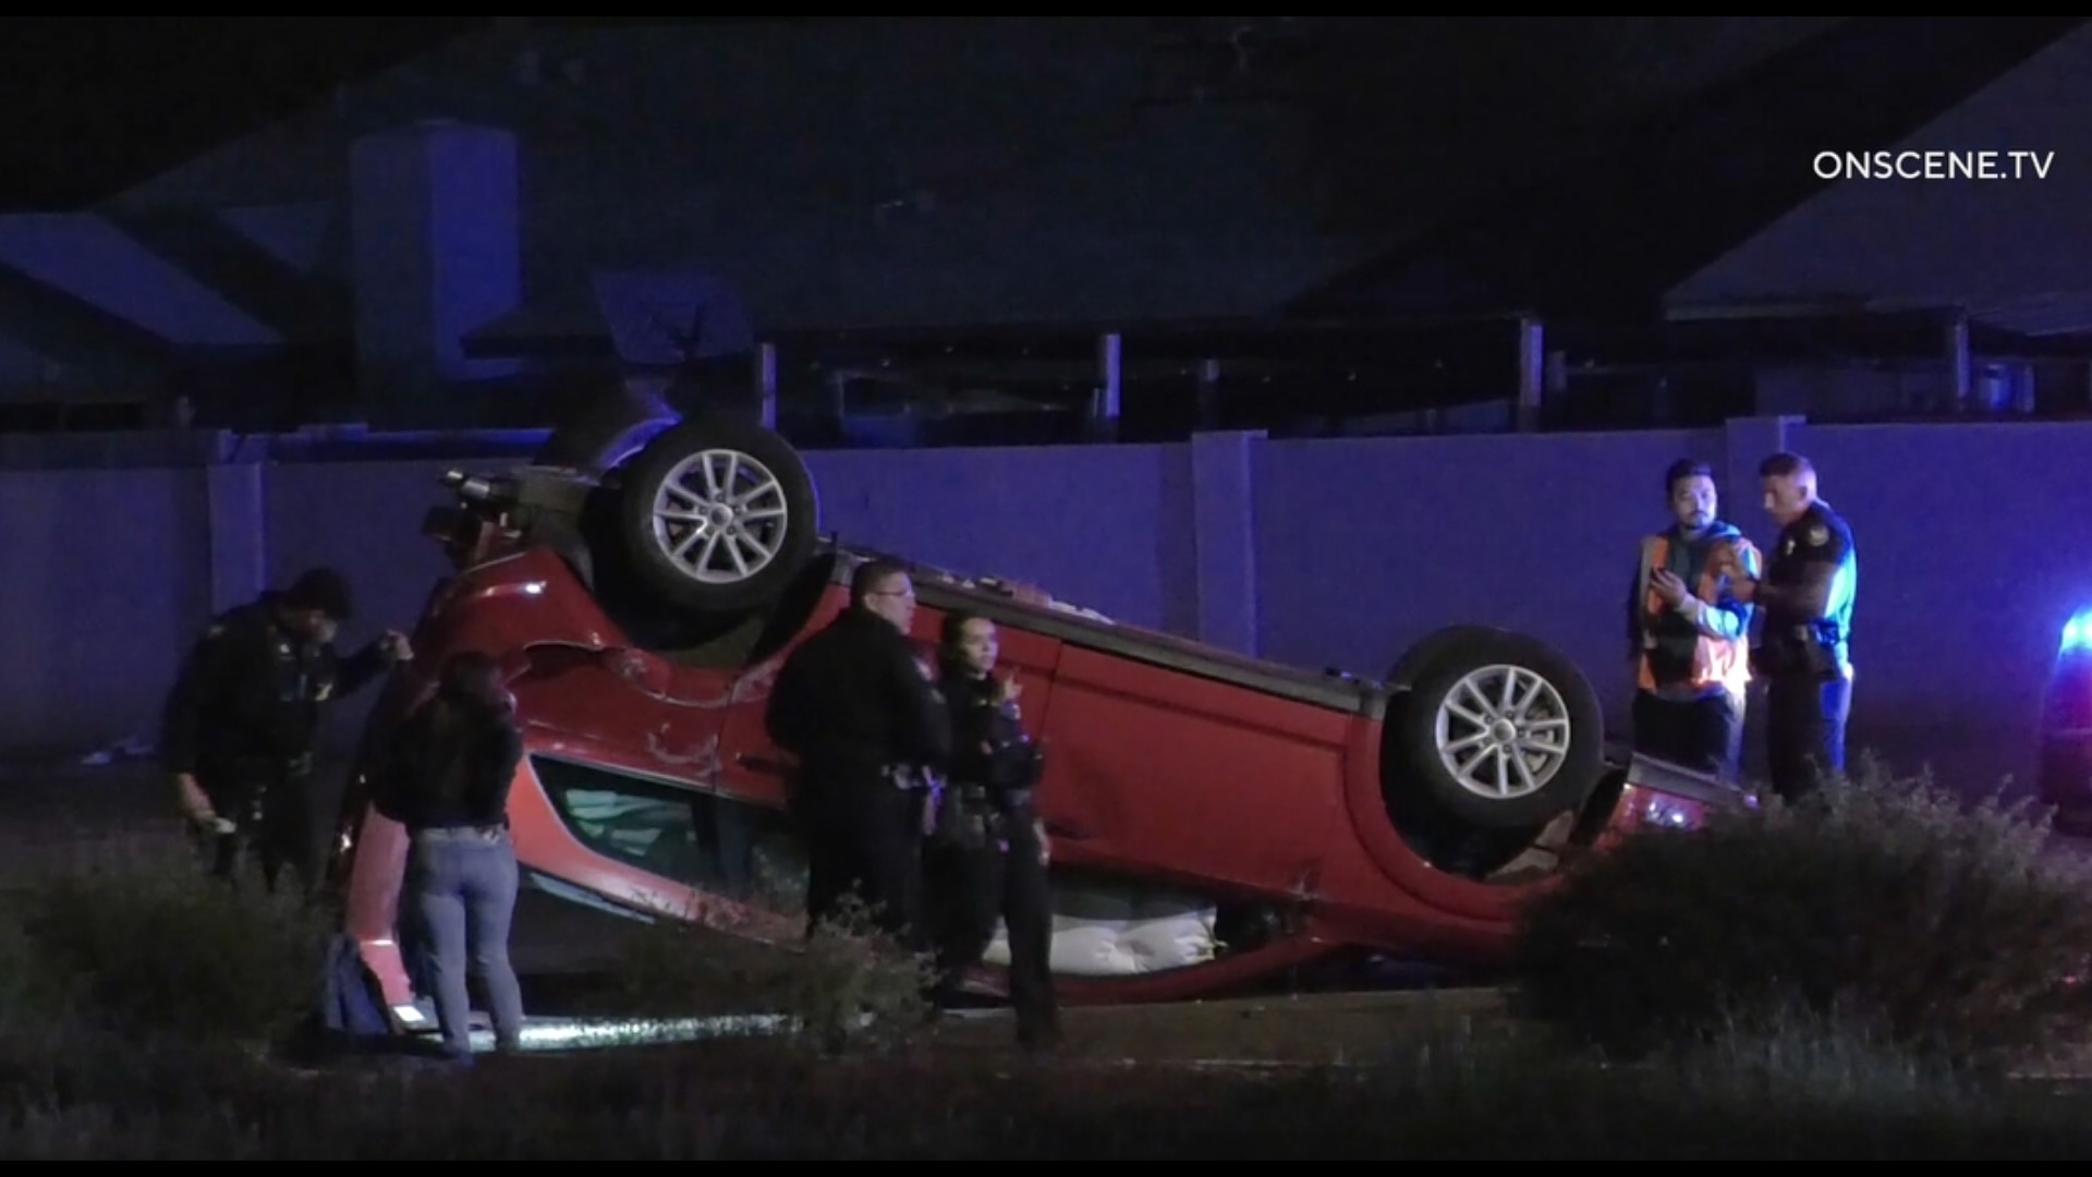
[[[431,595],[416,658],[379,702],[370,739],[383,739],[446,656],[492,651],[508,668],[527,743],[508,810],[527,886],[797,940],[801,917],[749,884],[759,869],[736,867],[736,878],[722,863],[789,861],[764,706],[791,649],[845,605],[849,568],[868,553],[822,547],[745,656],[690,666],[642,649],[556,545],[475,534],[456,553],[460,572]],[[1132,901],[1125,919],[1071,915],[1073,963],[1063,968],[1059,942],[1054,959],[1069,1003],[1197,997],[1335,949],[1492,961],[1510,945],[1521,898],[1548,884],[1546,871],[1494,882],[1439,869],[1391,821],[1385,714],[1400,685],[1243,658],[931,568],[916,568],[914,582],[925,647],[948,609],[1000,628],[1004,670],[1046,750],[1038,804],[1056,890],[1096,880],[1096,894],[1188,896],[1157,917],[1178,919],[1157,934],[1182,945],[1205,936],[1184,928],[1211,930],[1180,957],[1142,957],[1149,949],[1125,947],[1134,940],[1109,951],[1082,940],[1088,928],[1146,928]],[[1567,815],[1577,817],[1567,850],[1651,823],[1699,825],[1734,796],[1640,760],[1611,764],[1592,792],[1582,817]],[[406,834],[368,808],[360,773],[337,850],[347,930],[402,1028],[416,1028],[397,936]],[[1000,993],[998,968],[977,980]]]

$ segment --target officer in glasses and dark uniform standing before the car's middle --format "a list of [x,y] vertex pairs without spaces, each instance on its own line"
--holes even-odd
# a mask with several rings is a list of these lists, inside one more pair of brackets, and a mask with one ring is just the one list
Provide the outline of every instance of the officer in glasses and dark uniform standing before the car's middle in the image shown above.
[[791,808],[808,848],[808,934],[851,888],[910,949],[923,926],[925,767],[952,723],[908,641],[914,584],[891,561],[858,565],[849,607],[784,660],[764,727],[793,754]]

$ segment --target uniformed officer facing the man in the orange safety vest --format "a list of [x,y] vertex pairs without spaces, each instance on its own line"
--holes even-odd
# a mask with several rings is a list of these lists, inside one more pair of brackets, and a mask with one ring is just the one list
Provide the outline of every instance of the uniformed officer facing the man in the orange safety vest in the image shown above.
[[1757,475],[1780,536],[1766,578],[1741,576],[1734,593],[1766,616],[1755,666],[1766,681],[1766,769],[1772,790],[1795,802],[1845,771],[1860,563],[1851,528],[1816,496],[1807,459],[1772,454]]

